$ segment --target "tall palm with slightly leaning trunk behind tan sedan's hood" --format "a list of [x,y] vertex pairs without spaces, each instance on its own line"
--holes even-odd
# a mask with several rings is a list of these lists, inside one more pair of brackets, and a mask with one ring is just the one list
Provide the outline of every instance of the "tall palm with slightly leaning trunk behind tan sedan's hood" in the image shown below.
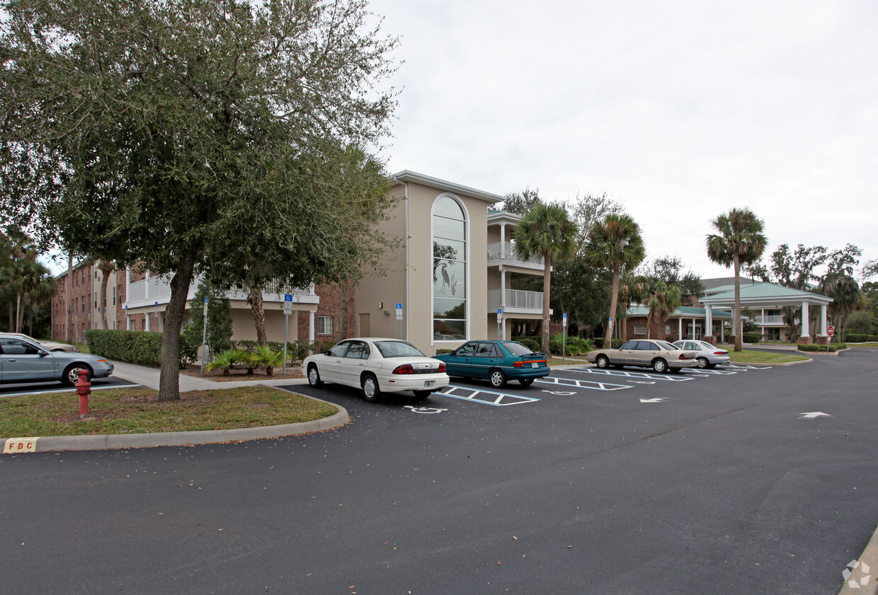
[[585,254],[596,267],[613,271],[613,287],[610,291],[609,324],[604,333],[605,349],[610,348],[613,338],[613,317],[619,300],[619,277],[623,270],[637,267],[646,257],[640,226],[629,215],[610,213],[603,221],[595,221],[589,233]]

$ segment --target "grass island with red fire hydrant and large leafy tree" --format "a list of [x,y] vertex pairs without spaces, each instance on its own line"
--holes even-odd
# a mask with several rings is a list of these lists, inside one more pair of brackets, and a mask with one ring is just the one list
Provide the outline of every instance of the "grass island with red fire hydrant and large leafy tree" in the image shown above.
[[110,389],[89,397],[93,421],[79,419],[75,392],[0,399],[0,437],[149,434],[276,426],[323,419],[335,405],[270,386],[180,393],[159,403],[158,391]]

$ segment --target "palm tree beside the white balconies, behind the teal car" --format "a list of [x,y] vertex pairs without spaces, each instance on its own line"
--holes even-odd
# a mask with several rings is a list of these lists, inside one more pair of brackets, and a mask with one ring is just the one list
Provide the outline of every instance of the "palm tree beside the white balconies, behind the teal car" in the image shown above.
[[515,254],[543,257],[543,351],[549,353],[549,290],[551,263],[571,258],[578,229],[560,204],[536,203],[512,232]]

